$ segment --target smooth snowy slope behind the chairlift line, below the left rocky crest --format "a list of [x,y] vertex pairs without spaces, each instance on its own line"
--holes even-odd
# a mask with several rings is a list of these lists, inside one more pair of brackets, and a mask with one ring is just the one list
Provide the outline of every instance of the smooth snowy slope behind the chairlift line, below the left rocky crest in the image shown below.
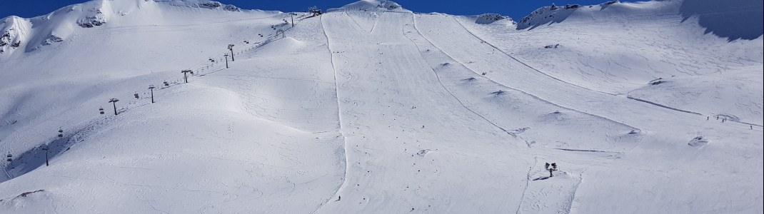
[[[161,5],[156,6],[161,7]],[[190,17],[194,15],[189,14],[189,11],[196,10],[198,9],[181,8],[176,12],[178,14],[177,19],[161,18],[161,16],[156,17],[154,15],[157,21],[151,23],[167,25],[144,24],[136,26],[130,23],[131,21],[121,21],[128,24],[125,26],[108,26],[107,24],[99,28],[79,28],[79,33],[74,35],[75,38],[60,45],[51,46],[50,49],[0,56],[7,57],[3,59],[2,63],[4,72],[0,73],[2,75],[0,82],[5,88],[4,92],[7,92],[8,95],[4,96],[4,102],[2,102],[8,105],[0,107],[4,108],[3,112],[8,116],[3,120],[7,124],[19,121],[14,124],[15,128],[28,130],[29,127],[38,125],[38,122],[45,122],[55,115],[63,115],[64,112],[67,112],[66,115],[79,114],[83,118],[92,118],[95,116],[92,115],[92,112],[97,111],[99,105],[108,107],[100,104],[103,103],[103,99],[108,101],[109,96],[114,97],[112,96],[114,93],[125,92],[119,85],[132,86],[133,89],[128,92],[137,92],[138,90],[143,91],[149,85],[147,83],[150,81],[149,79],[154,79],[151,84],[157,86],[165,80],[176,80],[181,69],[199,68],[204,63],[209,62],[207,61],[209,57],[214,57],[220,61],[222,53],[227,52],[227,50],[216,50],[221,49],[219,47],[225,47],[229,43],[254,47],[254,41],[253,44],[244,44],[243,41],[246,38],[264,40],[260,37],[255,38],[256,35],[253,34],[272,31],[269,25],[278,24],[280,21],[276,20],[277,18],[264,18],[267,17],[266,15],[254,15],[255,20],[262,22],[253,25],[239,21],[237,24],[236,21],[228,22],[228,20],[238,20],[240,17],[228,17],[221,14],[213,16],[215,13],[210,13],[203,18],[191,19]],[[135,16],[125,16],[125,19],[152,20],[147,17],[151,14],[155,13],[152,11],[146,11],[145,14],[136,12],[134,13]],[[173,16],[170,15],[170,17]],[[189,22],[183,20],[196,21],[191,24],[181,24]],[[220,24],[224,22],[228,22],[228,24]],[[188,31],[193,29],[227,33],[189,34]],[[231,35],[238,36],[233,37]],[[229,39],[220,41],[220,37],[229,37]],[[173,44],[168,44],[168,42]],[[161,47],[161,49],[154,49],[154,47]],[[183,54],[187,51],[183,50],[183,47],[192,47],[196,54]],[[205,49],[207,53],[204,52]],[[125,81],[134,82],[121,83]],[[136,87],[135,85],[138,83],[146,86]],[[95,100],[96,95],[106,97],[99,97]],[[66,100],[71,96],[81,96],[84,100],[77,100],[77,102]],[[53,100],[53,102],[43,102],[43,105],[36,105],[40,104],[38,99],[48,99]],[[53,108],[53,106],[57,107]],[[89,106],[89,108],[84,106]],[[85,117],[85,115],[91,116]],[[50,128],[58,128],[66,123],[70,122],[63,120],[59,125],[53,125]],[[4,131],[8,131],[8,129]],[[44,138],[29,140],[34,142],[42,139]]]

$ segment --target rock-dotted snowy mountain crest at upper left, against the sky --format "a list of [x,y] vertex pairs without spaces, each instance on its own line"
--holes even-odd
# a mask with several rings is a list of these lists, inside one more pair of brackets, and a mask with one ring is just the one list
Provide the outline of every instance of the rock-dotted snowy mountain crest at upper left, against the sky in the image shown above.
[[37,50],[40,47],[66,41],[76,34],[76,31],[98,28],[109,25],[113,21],[127,25],[165,22],[167,21],[165,19],[173,18],[167,11],[177,11],[173,14],[183,16],[190,14],[183,11],[223,13],[243,10],[234,5],[224,5],[215,1],[94,0],[69,5],[34,18],[16,16],[3,18],[0,20],[0,54],[8,56],[11,52]]

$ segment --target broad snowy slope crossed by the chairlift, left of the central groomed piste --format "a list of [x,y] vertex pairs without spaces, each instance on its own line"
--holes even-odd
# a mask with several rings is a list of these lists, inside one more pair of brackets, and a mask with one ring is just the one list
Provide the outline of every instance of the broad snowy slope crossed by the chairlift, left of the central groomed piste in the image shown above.
[[[334,129],[336,107],[329,105],[330,113],[320,110],[327,105],[321,100],[336,103],[334,84],[325,83],[333,76],[274,76],[284,80],[268,82],[257,96],[248,96],[257,83],[243,82],[247,76],[214,73],[225,67],[227,44],[236,45],[236,54],[262,46],[275,38],[274,28],[283,27],[288,15],[151,4],[156,11],[133,11],[134,16],[99,28],[77,28],[73,37],[50,49],[4,56],[2,150],[14,161],[3,165],[8,177],[0,192],[8,195],[2,196],[2,212],[315,210],[342,182],[344,169],[342,135]],[[294,48],[299,53],[306,49]],[[325,48],[318,50],[329,55]],[[251,63],[288,64],[278,53],[268,56],[271,61]],[[180,70],[187,68],[209,77],[213,85],[180,87]],[[216,77],[225,83],[242,79],[243,85],[214,86]],[[312,82],[320,84],[305,84]],[[154,104],[150,84],[157,86]],[[299,90],[265,90],[274,86],[303,86],[324,98]],[[131,97],[133,92],[141,99]],[[121,99],[120,115],[109,116],[110,98]],[[292,106],[316,110],[285,111]],[[105,115],[98,114],[99,107]],[[58,128],[65,130],[61,140],[44,134]],[[34,170],[44,164],[40,144],[48,142],[51,167],[57,168]],[[34,177],[45,179],[28,182]],[[16,197],[35,188],[44,191]],[[248,203],[256,200],[261,203]],[[295,201],[304,206],[292,206]],[[31,206],[40,203],[50,206]]]

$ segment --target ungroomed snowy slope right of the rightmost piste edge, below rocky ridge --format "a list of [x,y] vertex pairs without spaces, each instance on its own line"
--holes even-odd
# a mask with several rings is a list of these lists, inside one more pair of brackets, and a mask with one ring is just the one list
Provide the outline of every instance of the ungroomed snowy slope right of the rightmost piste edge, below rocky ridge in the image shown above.
[[[704,34],[698,18],[682,18],[681,5],[669,1],[581,7],[565,24],[530,31],[471,24],[463,18],[460,23],[521,62],[573,85],[762,125],[762,37],[729,41]],[[602,25],[608,27],[601,29]]]

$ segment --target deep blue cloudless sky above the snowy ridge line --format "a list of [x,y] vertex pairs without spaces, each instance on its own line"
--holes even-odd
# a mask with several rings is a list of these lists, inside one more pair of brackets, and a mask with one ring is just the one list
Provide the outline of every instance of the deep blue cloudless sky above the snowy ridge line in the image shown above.
[[[334,1],[263,1],[263,0],[219,0],[228,5],[236,5],[244,9],[262,9],[270,11],[303,11],[309,6],[318,6],[321,9],[338,8],[357,0],[334,0]],[[415,12],[442,12],[452,15],[480,15],[484,13],[498,13],[508,15],[515,20],[525,17],[530,12],[542,6],[579,4],[597,5],[607,0],[471,0],[471,1],[426,1],[426,0],[398,0],[403,8]],[[23,18],[32,18],[38,15],[46,15],[66,5],[88,2],[84,0],[0,0],[0,18],[9,15],[17,15]]]

